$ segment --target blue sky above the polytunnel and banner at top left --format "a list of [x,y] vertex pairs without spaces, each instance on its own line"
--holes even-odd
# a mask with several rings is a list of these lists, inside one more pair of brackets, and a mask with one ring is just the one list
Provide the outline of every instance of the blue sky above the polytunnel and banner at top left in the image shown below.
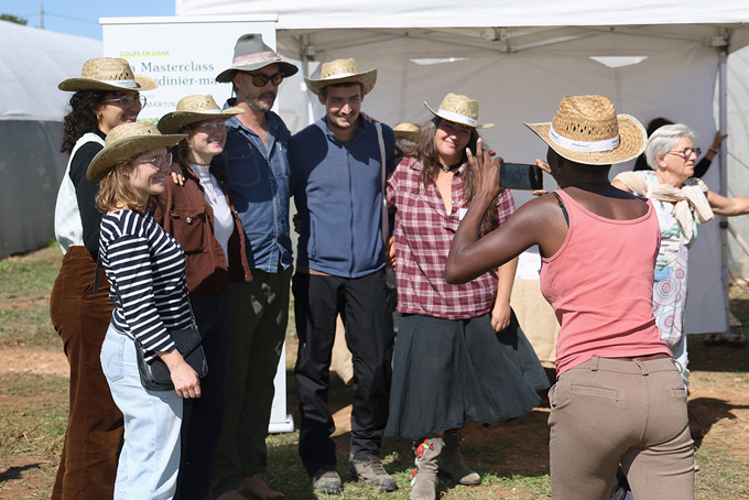
[[101,40],[99,18],[174,15],[174,0],[0,0],[0,14],[28,20],[40,28],[40,6],[44,6],[44,29]]

